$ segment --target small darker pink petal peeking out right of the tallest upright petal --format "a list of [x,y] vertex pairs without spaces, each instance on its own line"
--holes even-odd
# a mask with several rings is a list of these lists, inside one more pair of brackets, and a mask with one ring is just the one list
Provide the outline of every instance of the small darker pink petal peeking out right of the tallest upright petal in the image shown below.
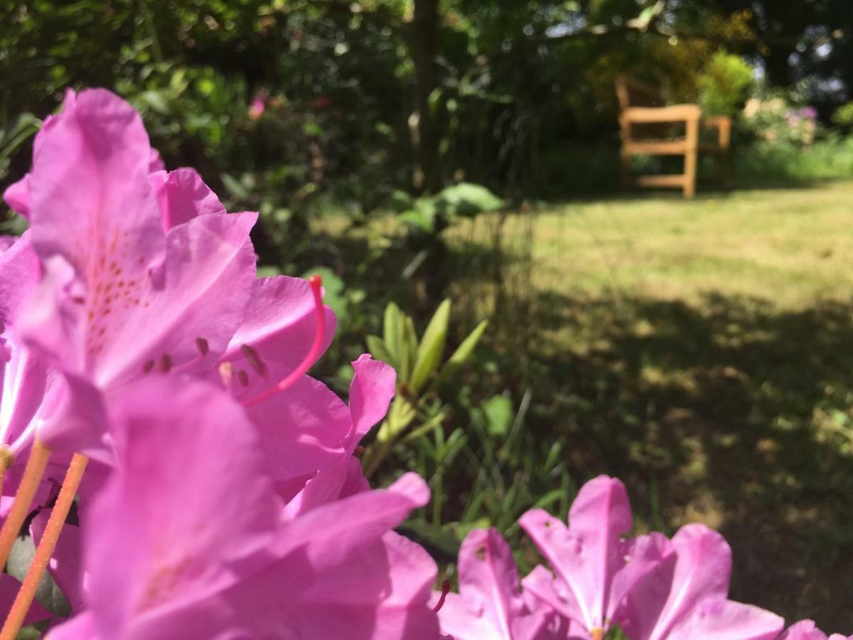
[[166,231],[196,216],[225,214],[222,202],[194,169],[155,172],[149,179]]

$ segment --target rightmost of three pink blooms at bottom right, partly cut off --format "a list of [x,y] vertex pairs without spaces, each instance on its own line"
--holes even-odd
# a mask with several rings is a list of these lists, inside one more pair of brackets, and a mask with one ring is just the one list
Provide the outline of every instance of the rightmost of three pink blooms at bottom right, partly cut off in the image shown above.
[[682,527],[672,538],[676,562],[650,573],[631,592],[623,631],[631,640],[773,640],[784,620],[761,608],[728,600],[732,550],[704,525]]

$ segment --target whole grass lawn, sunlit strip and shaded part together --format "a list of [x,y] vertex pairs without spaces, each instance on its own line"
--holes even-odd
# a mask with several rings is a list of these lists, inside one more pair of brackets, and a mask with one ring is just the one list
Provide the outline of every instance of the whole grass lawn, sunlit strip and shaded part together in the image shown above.
[[[577,480],[624,478],[640,528],[719,528],[733,597],[831,631],[853,629],[851,201],[831,183],[513,214],[496,303],[525,301],[507,348],[530,354],[529,428]],[[452,233],[460,256],[489,254],[494,219]]]

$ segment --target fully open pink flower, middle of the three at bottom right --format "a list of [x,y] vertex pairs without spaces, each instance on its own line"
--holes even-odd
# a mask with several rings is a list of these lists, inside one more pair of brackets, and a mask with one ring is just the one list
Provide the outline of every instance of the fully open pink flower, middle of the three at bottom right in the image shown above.
[[569,527],[543,509],[528,511],[519,524],[556,574],[537,567],[523,580],[525,589],[588,637],[601,638],[612,622],[621,622],[625,598],[661,563],[674,561],[661,533],[623,538],[632,527],[628,495],[619,480],[606,475],[577,494]]

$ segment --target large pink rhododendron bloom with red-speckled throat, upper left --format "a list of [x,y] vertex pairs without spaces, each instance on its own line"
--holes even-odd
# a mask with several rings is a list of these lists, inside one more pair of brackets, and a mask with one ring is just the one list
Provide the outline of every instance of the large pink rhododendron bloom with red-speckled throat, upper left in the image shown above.
[[[74,393],[85,395],[78,388],[87,383],[109,392],[144,375],[206,375],[223,360],[293,368],[305,358],[314,329],[303,312],[313,309],[307,282],[257,281],[248,236],[256,214],[226,215],[192,170],[152,173],[153,151],[130,105],[105,90],[69,92],[34,148],[28,212],[44,277],[18,333]],[[111,456],[91,412],[58,412],[39,434],[52,448]]]

